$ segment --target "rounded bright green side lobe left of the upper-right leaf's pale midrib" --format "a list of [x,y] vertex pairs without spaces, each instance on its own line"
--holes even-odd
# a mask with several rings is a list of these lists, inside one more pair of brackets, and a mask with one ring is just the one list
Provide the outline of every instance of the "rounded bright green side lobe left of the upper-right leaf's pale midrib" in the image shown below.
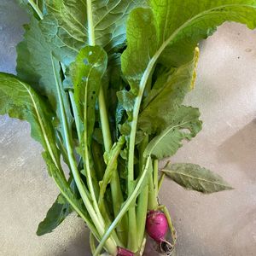
[[127,49],[121,55],[122,72],[131,86],[131,93],[137,95],[143,73],[158,46],[152,10],[138,8],[131,11],[126,33]]

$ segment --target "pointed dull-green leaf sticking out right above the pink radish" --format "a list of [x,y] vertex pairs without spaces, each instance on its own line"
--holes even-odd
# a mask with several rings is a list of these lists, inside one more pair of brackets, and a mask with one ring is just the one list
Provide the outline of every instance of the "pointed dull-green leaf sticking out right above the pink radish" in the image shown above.
[[186,189],[194,189],[209,194],[233,189],[218,174],[195,164],[168,163],[162,172]]

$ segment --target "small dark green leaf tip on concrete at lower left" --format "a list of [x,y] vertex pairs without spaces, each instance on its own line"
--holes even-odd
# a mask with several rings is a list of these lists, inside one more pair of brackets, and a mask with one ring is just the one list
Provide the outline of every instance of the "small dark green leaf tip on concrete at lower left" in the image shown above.
[[58,195],[46,217],[38,225],[37,235],[43,236],[55,230],[71,212],[73,212],[73,208],[67,200],[62,195]]

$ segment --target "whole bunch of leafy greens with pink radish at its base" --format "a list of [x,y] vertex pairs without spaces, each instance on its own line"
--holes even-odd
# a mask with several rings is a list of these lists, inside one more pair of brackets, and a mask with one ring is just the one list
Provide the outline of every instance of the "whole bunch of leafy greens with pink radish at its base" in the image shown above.
[[74,211],[90,229],[93,255],[142,255],[145,230],[171,253],[177,236],[158,201],[164,177],[202,193],[231,189],[193,164],[158,170],[201,131],[198,108],[183,105],[197,44],[226,20],[253,29],[256,0],[19,3],[30,22],[17,75],[0,73],[0,113],[30,123],[61,192],[38,236]]

